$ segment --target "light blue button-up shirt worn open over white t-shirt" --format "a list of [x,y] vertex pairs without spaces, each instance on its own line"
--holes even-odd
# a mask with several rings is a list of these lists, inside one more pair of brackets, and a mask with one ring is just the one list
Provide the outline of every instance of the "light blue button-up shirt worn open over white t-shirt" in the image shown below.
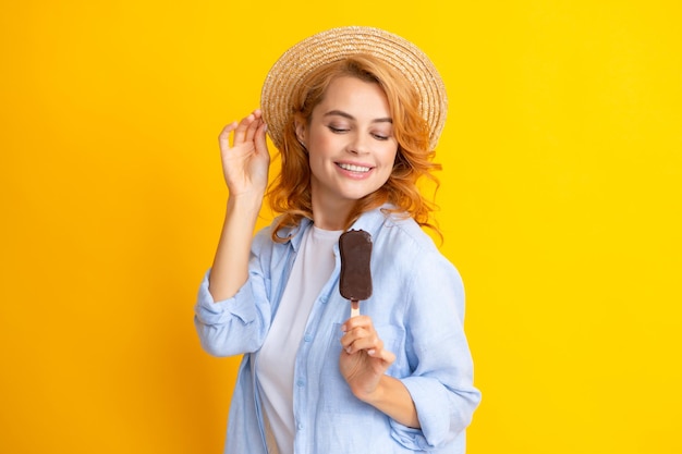
[[[228,454],[266,454],[254,364],[296,257],[304,220],[289,241],[255,236],[249,279],[238,294],[214,302],[208,272],[195,308],[203,347],[216,356],[244,354],[230,407]],[[358,401],[339,371],[341,324],[350,303],[339,293],[341,261],[313,305],[294,365],[295,454],[465,452],[465,428],[480,401],[463,329],[464,292],[455,268],[412,219],[377,209],[352,226],[372,234],[373,296],[361,303],[385,348],[395,354],[389,376],[410,391],[421,429],[402,426]],[[210,272],[210,271],[209,271]]]

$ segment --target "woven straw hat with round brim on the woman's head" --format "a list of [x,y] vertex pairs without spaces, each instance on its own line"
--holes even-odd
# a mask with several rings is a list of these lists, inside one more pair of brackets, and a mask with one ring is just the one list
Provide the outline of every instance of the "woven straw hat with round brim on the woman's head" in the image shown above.
[[429,145],[436,148],[448,112],[448,97],[440,74],[415,45],[379,28],[350,26],[313,35],[280,57],[263,85],[260,109],[270,138],[279,149],[283,130],[293,113],[291,95],[313,70],[346,57],[372,54],[402,73],[417,90],[422,116],[429,127]]

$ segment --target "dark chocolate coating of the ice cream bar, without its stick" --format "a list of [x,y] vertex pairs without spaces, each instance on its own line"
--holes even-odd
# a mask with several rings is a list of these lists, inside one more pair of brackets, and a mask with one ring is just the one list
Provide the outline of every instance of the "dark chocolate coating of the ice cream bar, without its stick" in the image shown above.
[[341,296],[351,300],[372,296],[372,235],[364,230],[350,230],[339,238],[341,253]]

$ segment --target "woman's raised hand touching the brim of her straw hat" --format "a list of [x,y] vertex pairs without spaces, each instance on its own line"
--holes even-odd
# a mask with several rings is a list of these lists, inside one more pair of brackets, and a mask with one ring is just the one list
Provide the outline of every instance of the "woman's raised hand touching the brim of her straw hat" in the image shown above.
[[[219,136],[222,172],[230,196],[263,197],[268,185],[270,155],[260,110],[223,127]],[[232,145],[230,145],[232,135]]]

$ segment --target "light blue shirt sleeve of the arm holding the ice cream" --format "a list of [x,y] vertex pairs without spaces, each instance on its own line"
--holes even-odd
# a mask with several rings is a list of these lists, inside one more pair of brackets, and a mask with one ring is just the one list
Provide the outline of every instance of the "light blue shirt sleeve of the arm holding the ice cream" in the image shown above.
[[464,334],[464,290],[454,267],[440,254],[416,260],[406,312],[409,345],[416,365],[402,379],[416,406],[419,430],[391,421],[393,438],[407,449],[428,451],[455,439],[480,401]]

